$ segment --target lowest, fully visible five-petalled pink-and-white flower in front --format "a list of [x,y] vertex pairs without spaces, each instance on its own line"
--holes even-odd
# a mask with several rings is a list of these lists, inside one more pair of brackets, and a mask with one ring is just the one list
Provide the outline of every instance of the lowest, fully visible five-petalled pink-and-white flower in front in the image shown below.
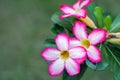
[[42,51],[42,56],[45,60],[52,63],[48,67],[51,76],[60,75],[64,68],[70,76],[80,72],[80,65],[76,59],[85,59],[86,50],[83,47],[77,46],[69,48],[69,38],[66,34],[58,34],[55,38],[57,48],[46,48]]

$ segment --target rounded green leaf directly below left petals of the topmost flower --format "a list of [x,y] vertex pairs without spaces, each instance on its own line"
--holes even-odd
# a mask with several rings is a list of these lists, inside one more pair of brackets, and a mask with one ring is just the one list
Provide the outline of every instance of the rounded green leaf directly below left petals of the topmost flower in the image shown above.
[[65,19],[60,20],[59,15],[62,14],[61,12],[56,12],[55,14],[53,14],[53,16],[51,17],[51,20],[55,23],[58,24],[59,26],[62,26],[68,30],[71,31],[72,28],[72,18],[68,17]]

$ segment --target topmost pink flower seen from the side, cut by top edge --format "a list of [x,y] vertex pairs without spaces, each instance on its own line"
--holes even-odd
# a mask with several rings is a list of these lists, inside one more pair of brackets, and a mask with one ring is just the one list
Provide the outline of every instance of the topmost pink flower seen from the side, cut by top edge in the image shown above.
[[64,13],[64,15],[60,15],[60,19],[63,19],[68,16],[75,16],[76,18],[85,18],[87,14],[87,10],[83,9],[83,7],[88,6],[91,0],[78,0],[73,6],[68,6],[66,4],[62,4],[60,6],[60,10]]

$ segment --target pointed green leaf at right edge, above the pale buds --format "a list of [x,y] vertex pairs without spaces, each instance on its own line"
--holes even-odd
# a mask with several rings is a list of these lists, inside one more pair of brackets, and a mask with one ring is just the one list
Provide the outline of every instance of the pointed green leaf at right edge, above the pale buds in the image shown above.
[[113,21],[109,32],[120,32],[120,15]]

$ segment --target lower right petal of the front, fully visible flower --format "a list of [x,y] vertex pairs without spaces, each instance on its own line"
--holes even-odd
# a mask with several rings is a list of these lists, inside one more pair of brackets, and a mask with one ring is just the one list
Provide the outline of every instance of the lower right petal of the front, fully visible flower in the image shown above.
[[66,60],[65,69],[70,76],[74,76],[80,73],[80,65],[76,63],[74,60],[72,60],[71,58]]

